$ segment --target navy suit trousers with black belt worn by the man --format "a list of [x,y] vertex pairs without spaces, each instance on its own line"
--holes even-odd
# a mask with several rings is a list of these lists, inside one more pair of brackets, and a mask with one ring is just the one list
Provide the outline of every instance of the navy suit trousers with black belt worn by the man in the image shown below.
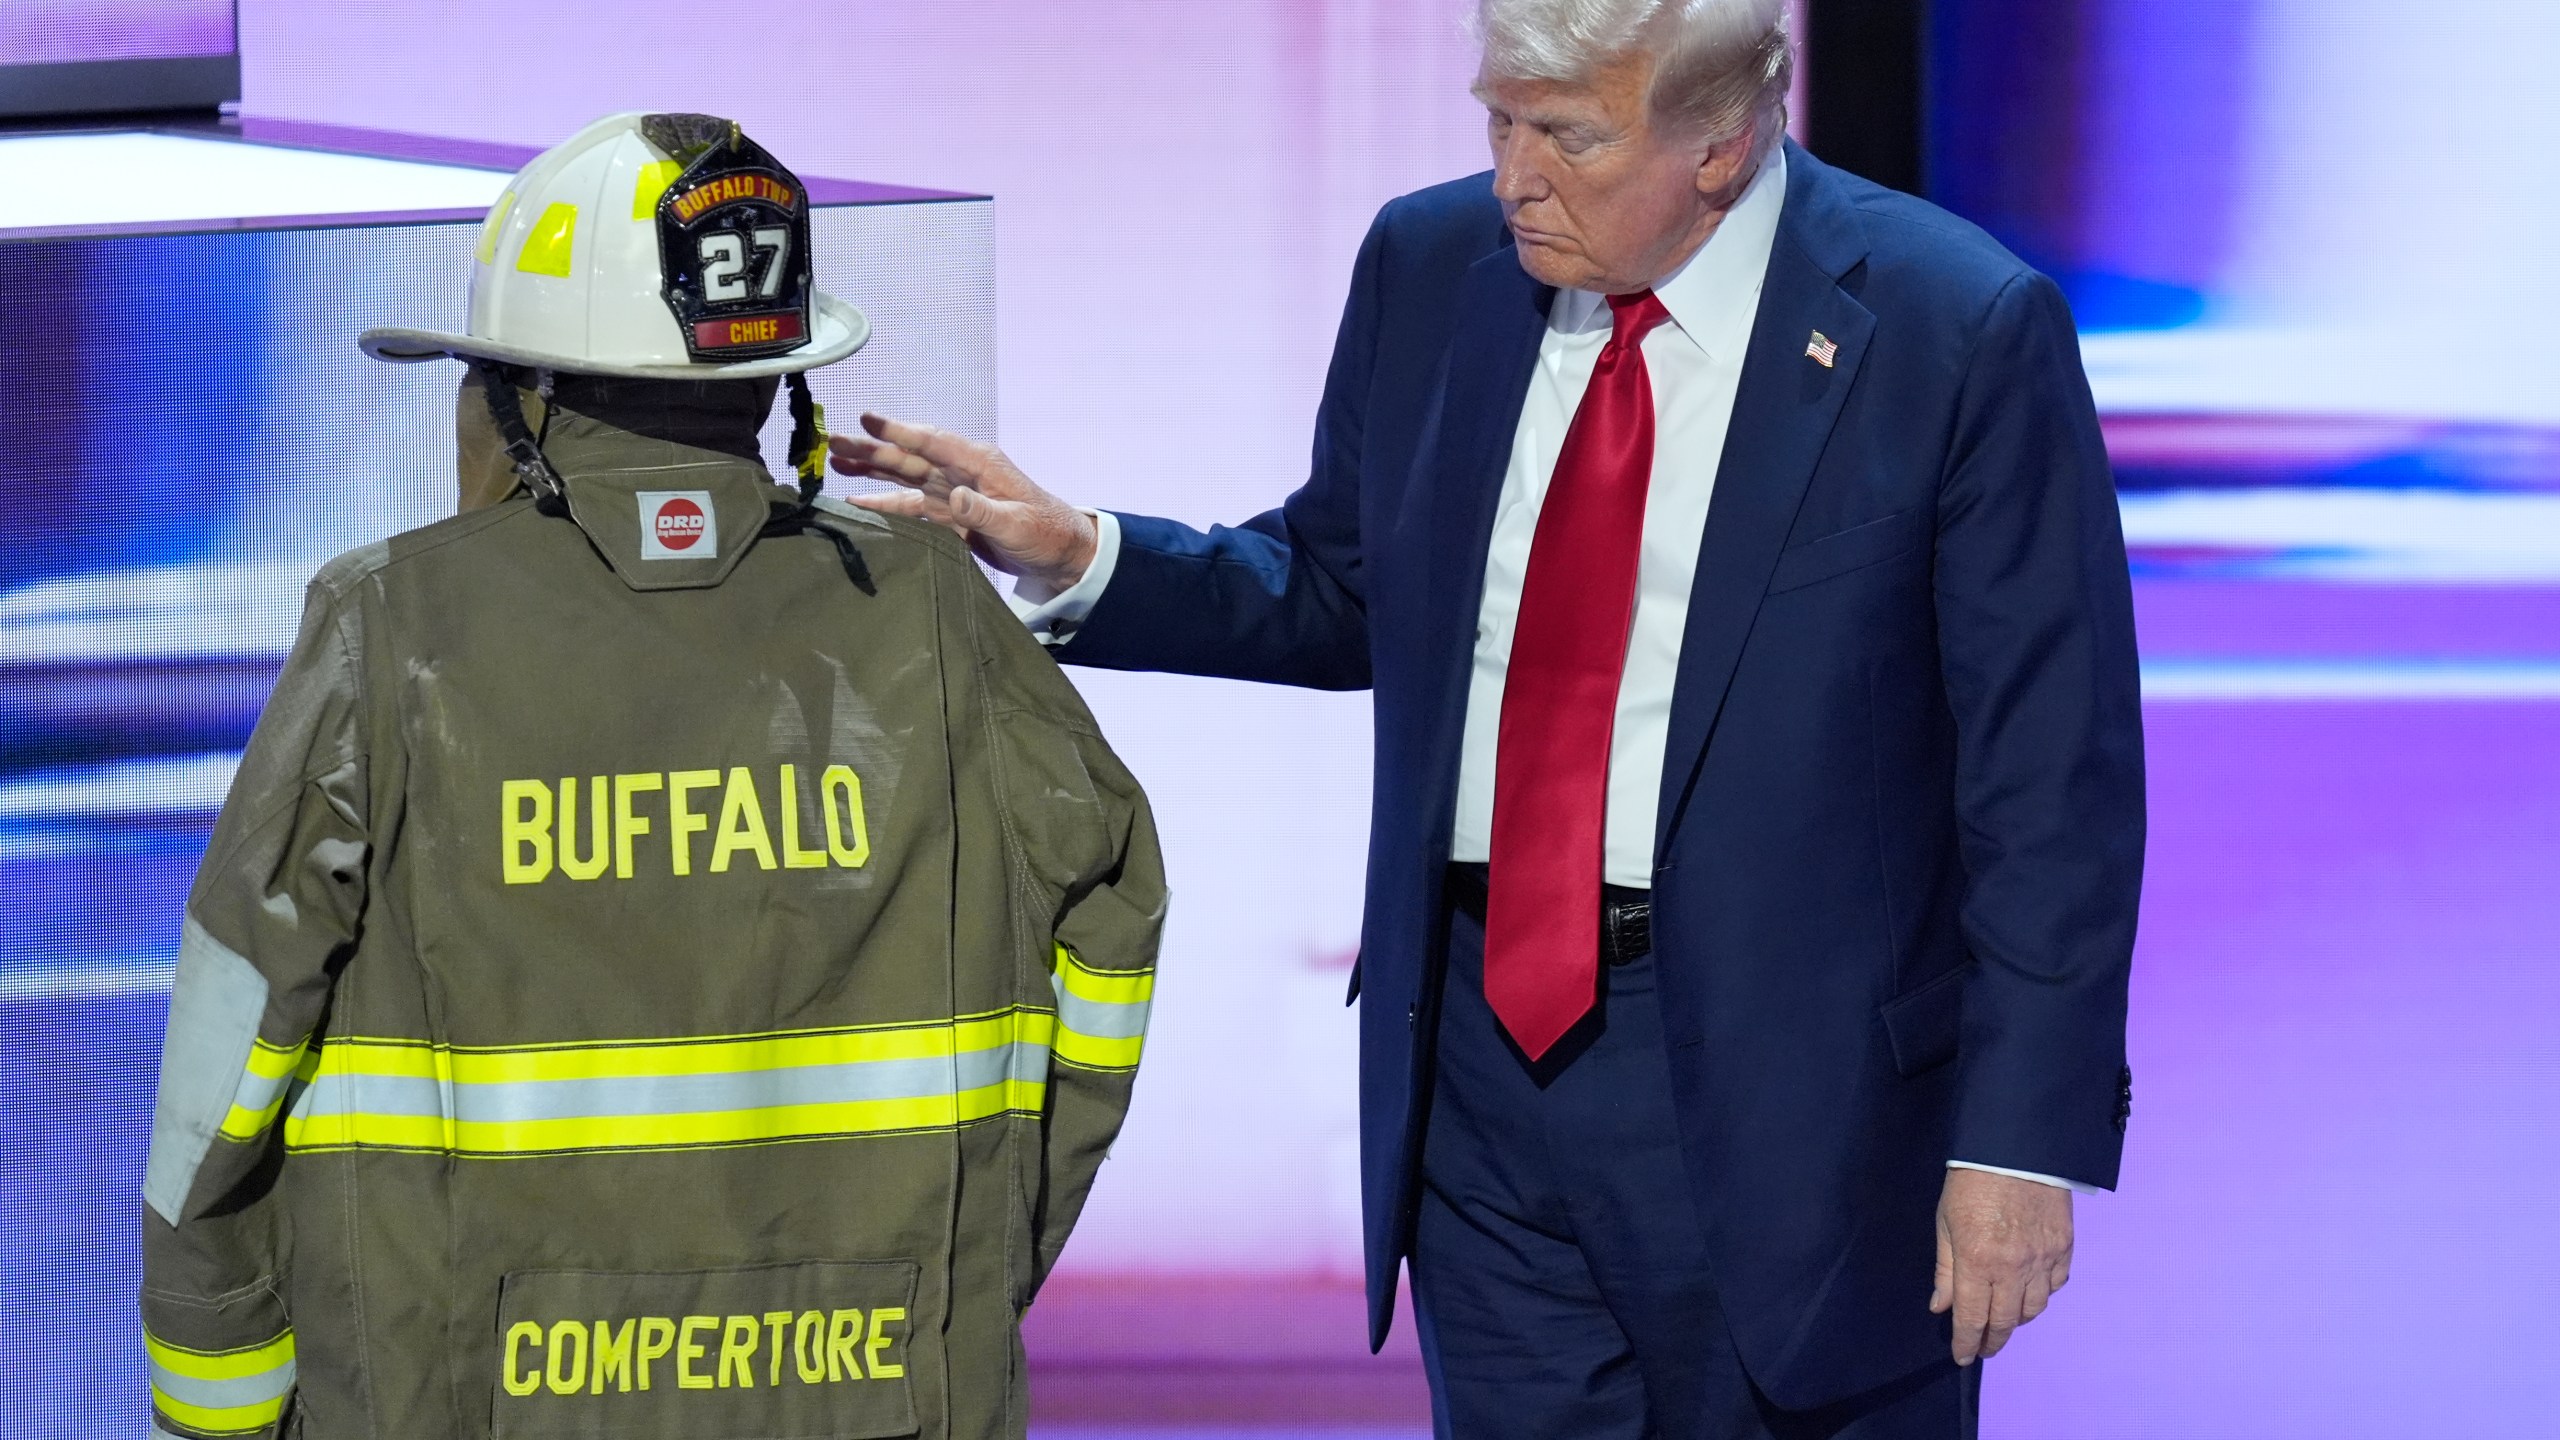
[[1971,1440],[1981,1366],[1940,1361],[1820,1412],[1743,1373],[1682,1163],[1656,956],[1528,1063],[1449,917],[1413,1312],[1444,1440]]

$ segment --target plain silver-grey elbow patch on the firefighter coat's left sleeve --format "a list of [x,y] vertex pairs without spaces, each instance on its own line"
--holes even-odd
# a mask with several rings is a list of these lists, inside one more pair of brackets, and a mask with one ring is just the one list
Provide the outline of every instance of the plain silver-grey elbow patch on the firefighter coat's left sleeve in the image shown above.
[[169,986],[169,1035],[143,1163],[143,1202],[169,1225],[187,1209],[195,1171],[241,1094],[264,1017],[266,976],[189,915]]

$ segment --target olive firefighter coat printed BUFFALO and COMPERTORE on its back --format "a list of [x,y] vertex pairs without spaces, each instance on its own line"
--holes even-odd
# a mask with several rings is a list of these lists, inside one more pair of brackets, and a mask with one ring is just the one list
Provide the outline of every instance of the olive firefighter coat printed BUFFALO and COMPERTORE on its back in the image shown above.
[[576,413],[333,561],[215,825],[159,1430],[1021,1435],[1119,1130],[1147,799],[947,533]]

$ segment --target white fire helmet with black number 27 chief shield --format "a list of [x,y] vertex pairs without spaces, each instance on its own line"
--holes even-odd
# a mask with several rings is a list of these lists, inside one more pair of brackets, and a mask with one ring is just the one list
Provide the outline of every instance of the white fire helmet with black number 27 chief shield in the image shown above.
[[812,282],[799,177],[730,120],[627,113],[535,156],[489,208],[468,333],[381,325],[356,343],[387,361],[753,379],[868,338]]

